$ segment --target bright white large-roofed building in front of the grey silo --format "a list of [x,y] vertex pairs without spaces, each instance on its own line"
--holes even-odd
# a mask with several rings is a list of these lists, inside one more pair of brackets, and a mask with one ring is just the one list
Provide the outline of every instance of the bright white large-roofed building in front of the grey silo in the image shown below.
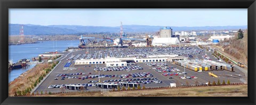
[[154,38],[152,41],[153,46],[159,46],[159,45],[173,45],[173,44],[179,44],[180,41],[177,37],[175,38]]

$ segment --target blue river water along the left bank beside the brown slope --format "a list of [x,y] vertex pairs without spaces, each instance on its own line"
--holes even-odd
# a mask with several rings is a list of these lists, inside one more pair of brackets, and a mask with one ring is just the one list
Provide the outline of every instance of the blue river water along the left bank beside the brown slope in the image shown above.
[[[37,57],[39,54],[49,51],[64,51],[68,47],[78,47],[79,40],[59,40],[59,41],[40,41],[39,43],[25,44],[25,45],[12,45],[9,46],[9,59],[13,63],[18,62],[20,59],[31,59]],[[13,69],[9,72],[9,83],[17,78],[20,74],[26,72],[28,69],[33,68],[35,65],[28,66],[26,69]],[[7,70],[6,70],[7,71]]]

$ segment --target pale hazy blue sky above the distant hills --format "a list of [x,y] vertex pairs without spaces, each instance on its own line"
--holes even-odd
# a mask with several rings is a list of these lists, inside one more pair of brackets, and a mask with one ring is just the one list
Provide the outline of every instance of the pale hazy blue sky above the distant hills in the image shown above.
[[9,23],[37,25],[247,25],[247,9],[9,9]]

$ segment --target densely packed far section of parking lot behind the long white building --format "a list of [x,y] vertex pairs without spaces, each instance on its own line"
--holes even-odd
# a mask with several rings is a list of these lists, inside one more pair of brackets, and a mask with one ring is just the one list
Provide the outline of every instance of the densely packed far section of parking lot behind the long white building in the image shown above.
[[197,47],[166,47],[166,48],[108,48],[108,49],[90,49],[88,54],[77,54],[68,59],[101,59],[105,57],[128,57],[128,55],[137,55],[141,57],[154,55],[182,55],[191,57],[202,52]]

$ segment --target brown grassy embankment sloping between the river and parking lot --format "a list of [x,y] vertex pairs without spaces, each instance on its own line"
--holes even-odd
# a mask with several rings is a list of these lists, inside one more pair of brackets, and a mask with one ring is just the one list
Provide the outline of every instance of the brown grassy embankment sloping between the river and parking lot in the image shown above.
[[[57,59],[53,57],[52,59]],[[14,81],[9,83],[9,96],[22,96],[30,94],[31,90],[38,85],[41,80],[57,65],[58,62],[52,64],[44,62],[43,64],[37,64],[35,67],[22,73]]]

